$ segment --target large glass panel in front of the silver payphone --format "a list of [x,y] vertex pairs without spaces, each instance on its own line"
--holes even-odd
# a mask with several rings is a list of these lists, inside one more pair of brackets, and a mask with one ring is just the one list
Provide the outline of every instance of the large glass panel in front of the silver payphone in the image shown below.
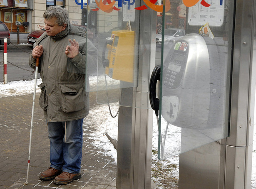
[[158,41],[160,160],[225,138],[229,127],[234,2],[168,2]]

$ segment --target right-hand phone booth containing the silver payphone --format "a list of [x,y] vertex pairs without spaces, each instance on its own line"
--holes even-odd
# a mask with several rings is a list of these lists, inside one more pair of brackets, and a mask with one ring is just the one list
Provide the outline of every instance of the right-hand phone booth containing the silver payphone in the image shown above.
[[175,17],[163,12],[162,59],[149,87],[160,81],[149,92],[159,110],[159,159],[179,154],[179,189],[249,189],[255,2],[183,3],[185,36],[164,33]]

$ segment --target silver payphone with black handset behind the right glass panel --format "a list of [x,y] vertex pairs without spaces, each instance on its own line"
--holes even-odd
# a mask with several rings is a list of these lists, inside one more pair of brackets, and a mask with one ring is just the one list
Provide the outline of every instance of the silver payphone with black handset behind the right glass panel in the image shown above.
[[[210,37],[187,34],[177,40],[161,70],[160,111],[164,120],[180,128],[196,130],[221,127],[225,92],[221,67],[218,45]],[[153,71],[152,77],[159,73]],[[153,81],[149,88],[152,85]],[[151,92],[149,94],[150,98],[156,98]],[[157,99],[150,101],[153,105],[158,103]]]

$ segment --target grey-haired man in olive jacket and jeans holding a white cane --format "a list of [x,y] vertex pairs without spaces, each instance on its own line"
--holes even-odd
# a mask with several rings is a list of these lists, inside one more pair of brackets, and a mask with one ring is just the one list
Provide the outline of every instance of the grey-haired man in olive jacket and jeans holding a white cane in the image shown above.
[[85,70],[95,65],[97,49],[87,42],[82,29],[70,24],[66,9],[48,7],[43,17],[45,33],[35,42],[29,59],[30,66],[35,68],[36,58],[40,58],[39,104],[50,139],[51,165],[39,177],[68,184],[82,177],[82,123],[89,113]]

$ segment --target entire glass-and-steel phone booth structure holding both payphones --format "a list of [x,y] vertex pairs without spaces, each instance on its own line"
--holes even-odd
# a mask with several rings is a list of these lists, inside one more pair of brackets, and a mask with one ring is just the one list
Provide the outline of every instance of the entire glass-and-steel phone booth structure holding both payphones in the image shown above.
[[118,115],[117,189],[151,188],[155,144],[159,160],[179,155],[179,189],[250,188],[255,0],[75,0],[68,10],[86,26],[87,91]]

